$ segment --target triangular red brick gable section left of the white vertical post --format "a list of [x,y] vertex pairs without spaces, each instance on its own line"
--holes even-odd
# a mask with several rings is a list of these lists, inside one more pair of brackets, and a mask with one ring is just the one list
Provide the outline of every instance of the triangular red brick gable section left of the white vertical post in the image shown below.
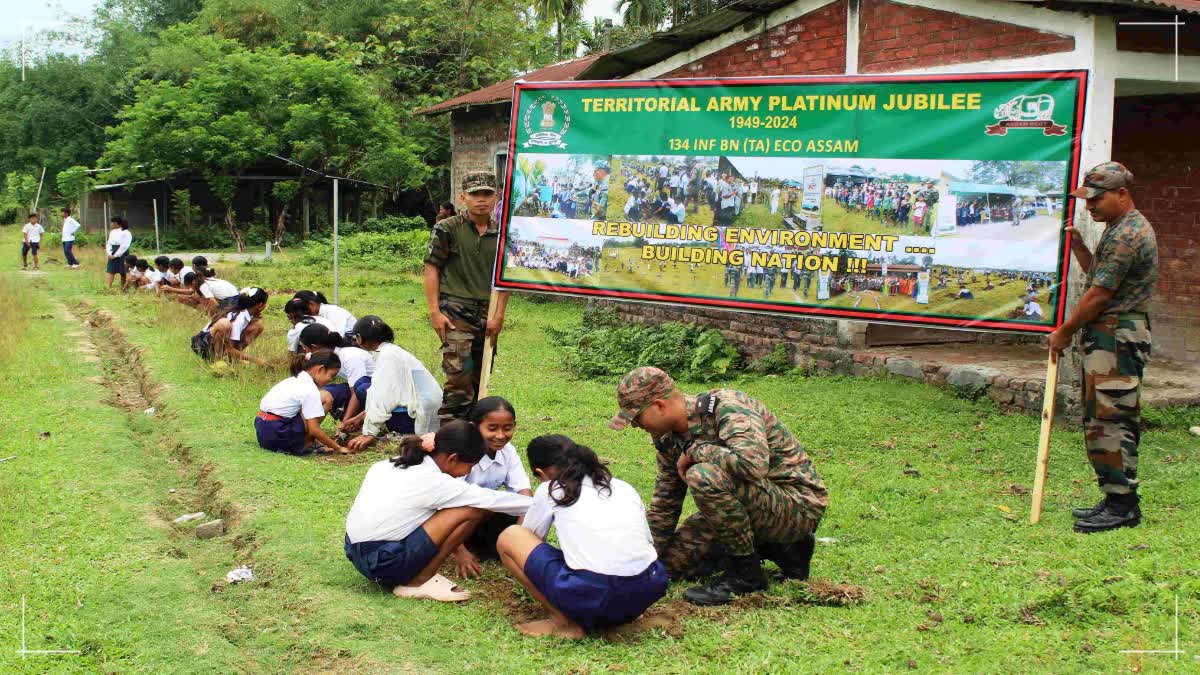
[[662,77],[841,74],[845,71],[846,0],[838,0]]

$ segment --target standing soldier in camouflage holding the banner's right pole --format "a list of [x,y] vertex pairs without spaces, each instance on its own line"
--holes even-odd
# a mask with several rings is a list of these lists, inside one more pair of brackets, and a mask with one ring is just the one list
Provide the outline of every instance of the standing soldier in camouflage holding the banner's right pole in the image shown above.
[[1104,498],[1073,514],[1076,532],[1134,527],[1141,521],[1138,444],[1141,380],[1150,358],[1150,297],[1158,280],[1158,244],[1133,204],[1133,174],[1117,162],[1087,172],[1070,196],[1087,201],[1092,219],[1105,222],[1093,253],[1073,227],[1072,251],[1087,273],[1079,305],[1050,335],[1058,354],[1081,330],[1084,438]]

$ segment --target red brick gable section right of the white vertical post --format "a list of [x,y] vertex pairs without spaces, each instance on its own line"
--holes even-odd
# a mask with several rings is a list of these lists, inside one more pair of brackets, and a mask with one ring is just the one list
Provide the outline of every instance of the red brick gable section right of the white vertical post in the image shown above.
[[1075,48],[1069,36],[887,0],[864,0],[860,12],[858,68],[864,73]]

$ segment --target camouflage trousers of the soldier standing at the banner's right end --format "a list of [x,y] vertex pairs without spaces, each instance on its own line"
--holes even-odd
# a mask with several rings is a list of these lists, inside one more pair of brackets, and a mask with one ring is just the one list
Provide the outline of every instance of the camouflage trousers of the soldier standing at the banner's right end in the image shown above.
[[1150,358],[1144,313],[1104,315],[1084,328],[1084,438],[1100,490],[1138,490],[1141,376]]

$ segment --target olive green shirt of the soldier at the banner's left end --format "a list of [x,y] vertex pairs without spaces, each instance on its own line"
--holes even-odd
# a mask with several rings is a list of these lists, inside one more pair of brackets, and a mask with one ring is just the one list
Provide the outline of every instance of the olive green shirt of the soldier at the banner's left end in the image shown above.
[[433,226],[425,264],[438,268],[440,294],[469,300],[491,297],[498,234],[494,219],[482,237],[466,215],[450,216]]

